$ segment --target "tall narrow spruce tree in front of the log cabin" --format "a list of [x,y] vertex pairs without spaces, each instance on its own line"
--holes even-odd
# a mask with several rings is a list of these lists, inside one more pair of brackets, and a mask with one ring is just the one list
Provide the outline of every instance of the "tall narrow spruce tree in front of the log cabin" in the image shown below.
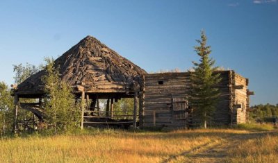
[[200,125],[206,128],[211,120],[215,105],[218,102],[220,92],[217,85],[221,78],[220,74],[215,74],[217,67],[213,67],[215,60],[209,58],[211,46],[206,46],[206,35],[201,33],[201,40],[197,40],[199,46],[195,46],[195,51],[199,55],[199,63],[193,62],[195,67],[190,74],[192,90],[189,94],[189,103],[194,109],[194,114],[199,117]]

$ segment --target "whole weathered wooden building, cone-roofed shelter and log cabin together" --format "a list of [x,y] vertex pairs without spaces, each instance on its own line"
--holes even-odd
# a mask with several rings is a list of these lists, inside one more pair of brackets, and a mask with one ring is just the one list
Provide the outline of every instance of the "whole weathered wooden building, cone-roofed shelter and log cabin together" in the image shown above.
[[[147,74],[95,37],[85,37],[74,45],[55,60],[55,67],[61,80],[73,87],[76,100],[87,101],[82,108],[82,128],[99,123],[127,123],[136,128],[139,120],[140,128],[171,130],[194,126],[198,121],[194,108],[190,109],[186,100],[190,89],[189,73]],[[217,126],[245,123],[252,94],[247,89],[248,79],[234,71],[219,73],[221,96],[211,123]],[[34,121],[43,121],[44,74],[46,71],[42,70],[14,87],[15,131],[19,122],[18,109],[33,112]],[[37,99],[38,103],[20,103],[20,98]],[[131,121],[113,121],[113,104],[120,98],[134,98]],[[99,110],[99,99],[107,100],[104,114]]]

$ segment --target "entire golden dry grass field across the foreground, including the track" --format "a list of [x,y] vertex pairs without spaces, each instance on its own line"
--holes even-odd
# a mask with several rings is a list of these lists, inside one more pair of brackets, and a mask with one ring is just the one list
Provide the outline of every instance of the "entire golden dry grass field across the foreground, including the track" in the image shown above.
[[0,146],[0,162],[278,162],[275,130],[85,130],[1,139]]

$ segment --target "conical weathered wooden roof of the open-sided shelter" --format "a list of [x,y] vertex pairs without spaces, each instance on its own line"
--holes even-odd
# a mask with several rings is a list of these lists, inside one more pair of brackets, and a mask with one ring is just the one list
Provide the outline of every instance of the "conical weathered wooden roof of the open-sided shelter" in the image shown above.
[[[129,92],[133,83],[139,83],[140,76],[147,74],[92,36],[85,37],[55,60],[55,67],[59,67],[64,82],[89,93]],[[15,94],[44,94],[41,80],[44,74],[43,70],[27,78],[18,85]]]

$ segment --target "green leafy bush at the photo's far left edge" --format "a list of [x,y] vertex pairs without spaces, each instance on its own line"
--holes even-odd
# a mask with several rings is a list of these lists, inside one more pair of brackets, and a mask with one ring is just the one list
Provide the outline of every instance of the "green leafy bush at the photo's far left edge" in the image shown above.
[[0,82],[0,132],[4,135],[13,128],[13,97],[6,83]]

